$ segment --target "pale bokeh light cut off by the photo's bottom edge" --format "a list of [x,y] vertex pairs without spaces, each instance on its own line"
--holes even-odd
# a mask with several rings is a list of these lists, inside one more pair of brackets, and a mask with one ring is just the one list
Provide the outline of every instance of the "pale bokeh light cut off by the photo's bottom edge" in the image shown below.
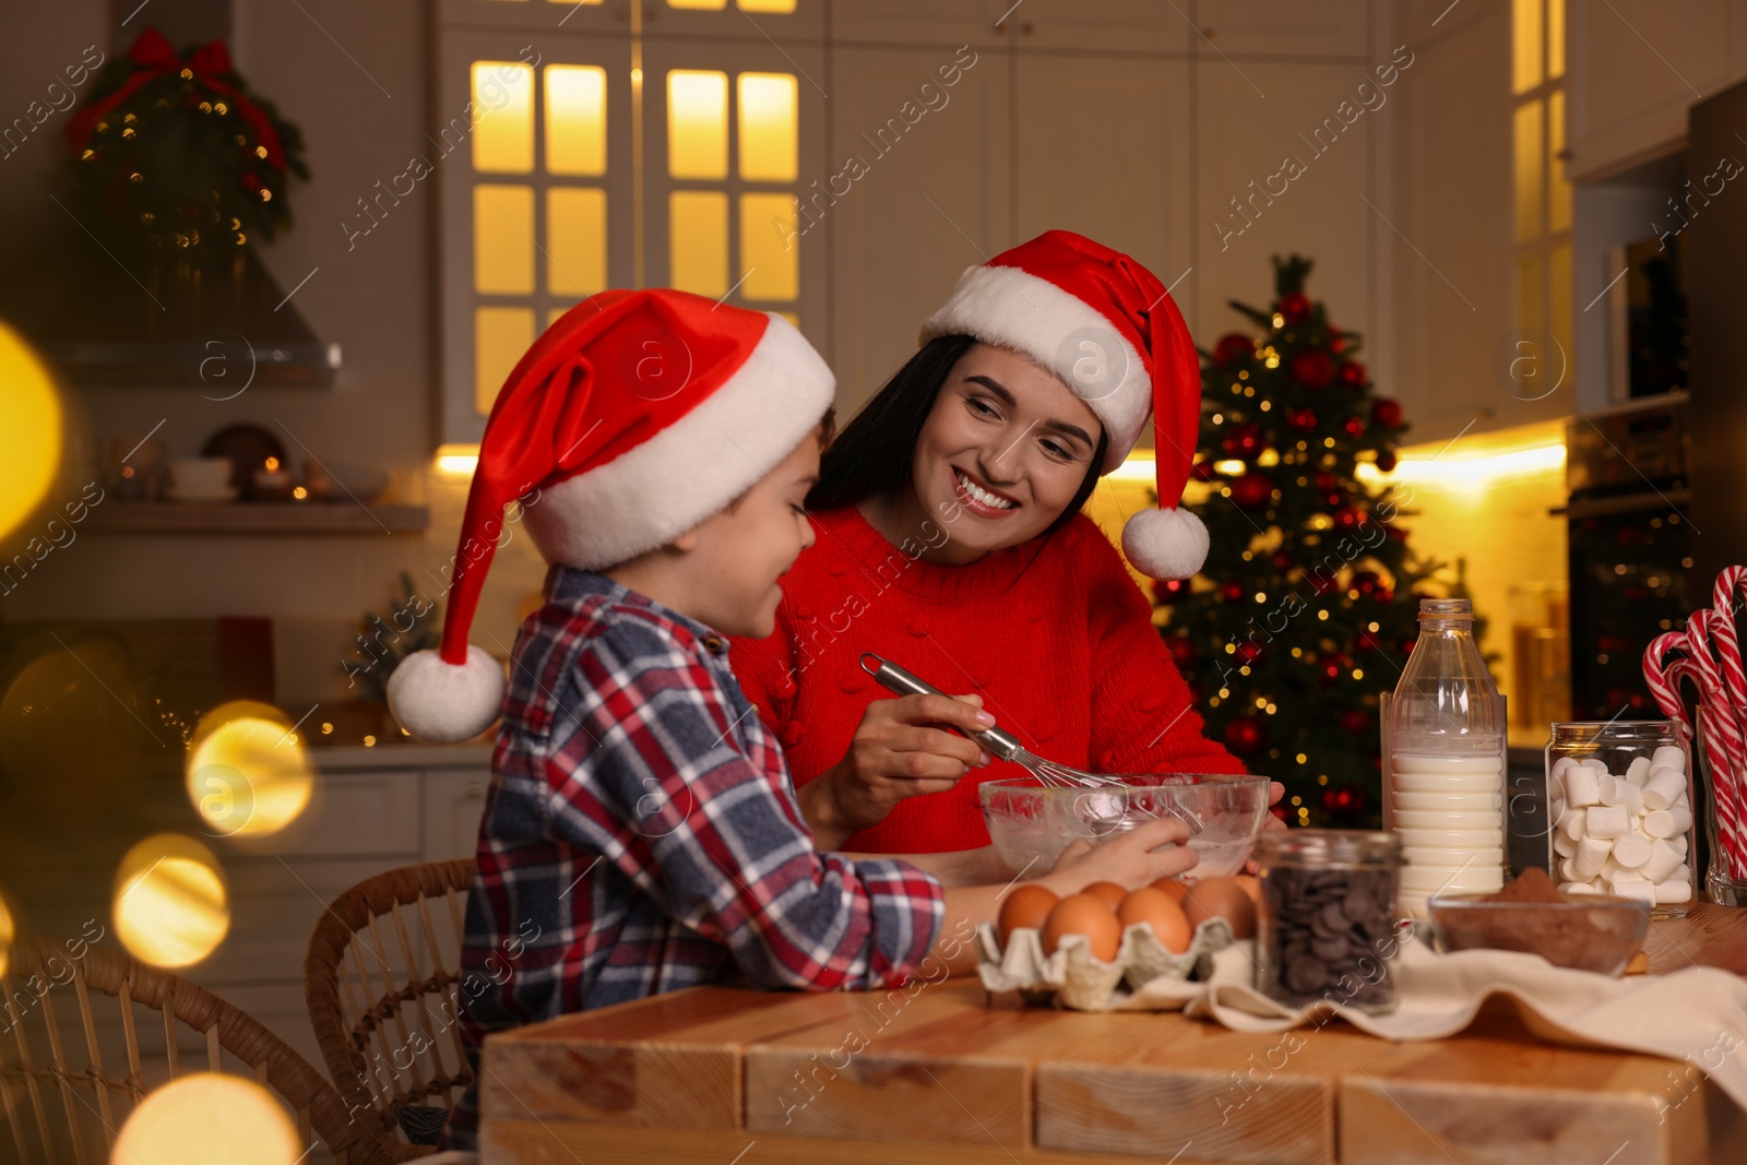
[[297,1128],[273,1093],[220,1072],[178,1076],[121,1127],[110,1165],[293,1165]]

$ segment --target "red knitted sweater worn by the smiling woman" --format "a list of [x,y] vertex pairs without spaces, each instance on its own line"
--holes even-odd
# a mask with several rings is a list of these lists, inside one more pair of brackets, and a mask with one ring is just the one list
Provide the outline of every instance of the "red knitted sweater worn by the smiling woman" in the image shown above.
[[[1244,772],[1202,737],[1188,685],[1122,555],[1085,515],[968,566],[912,559],[854,507],[812,515],[814,547],[783,578],[776,634],[734,639],[728,660],[776,730],[797,784],[849,751],[872,700],[863,651],[935,686],[984,697],[998,727],[1039,756],[1094,772]],[[844,845],[942,852],[989,844],[977,786],[1025,770],[971,770],[912,796]]]

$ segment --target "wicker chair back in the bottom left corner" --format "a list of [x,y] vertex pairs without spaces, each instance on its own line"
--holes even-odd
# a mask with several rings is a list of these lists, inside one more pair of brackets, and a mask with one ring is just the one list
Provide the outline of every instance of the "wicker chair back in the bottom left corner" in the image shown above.
[[[304,1144],[327,1142],[339,1165],[383,1160],[372,1130],[348,1120],[320,1071],[246,1011],[178,975],[108,947],[19,936],[0,987],[0,1024],[10,1027],[0,1036],[0,1160],[16,1153],[28,1165],[101,1165],[152,1088],[227,1069],[276,1092]],[[162,1022],[136,1017],[136,1004]],[[79,1058],[84,1067],[73,1067]]]

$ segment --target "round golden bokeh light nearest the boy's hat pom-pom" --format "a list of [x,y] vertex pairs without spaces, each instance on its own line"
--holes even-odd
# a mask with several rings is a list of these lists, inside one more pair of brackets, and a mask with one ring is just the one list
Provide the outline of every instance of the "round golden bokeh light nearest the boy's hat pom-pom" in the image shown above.
[[314,788],[292,720],[255,700],[206,713],[189,741],[185,774],[189,800],[218,837],[278,833],[304,812]]

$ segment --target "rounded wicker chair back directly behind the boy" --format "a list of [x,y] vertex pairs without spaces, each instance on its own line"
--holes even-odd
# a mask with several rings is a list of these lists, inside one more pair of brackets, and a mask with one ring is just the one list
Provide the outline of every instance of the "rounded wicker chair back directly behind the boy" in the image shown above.
[[456,1025],[472,880],[468,858],[379,873],[335,898],[309,936],[304,999],[316,1043],[346,1109],[391,1162],[435,1153],[407,1139],[412,1116],[435,1120],[473,1083]]

